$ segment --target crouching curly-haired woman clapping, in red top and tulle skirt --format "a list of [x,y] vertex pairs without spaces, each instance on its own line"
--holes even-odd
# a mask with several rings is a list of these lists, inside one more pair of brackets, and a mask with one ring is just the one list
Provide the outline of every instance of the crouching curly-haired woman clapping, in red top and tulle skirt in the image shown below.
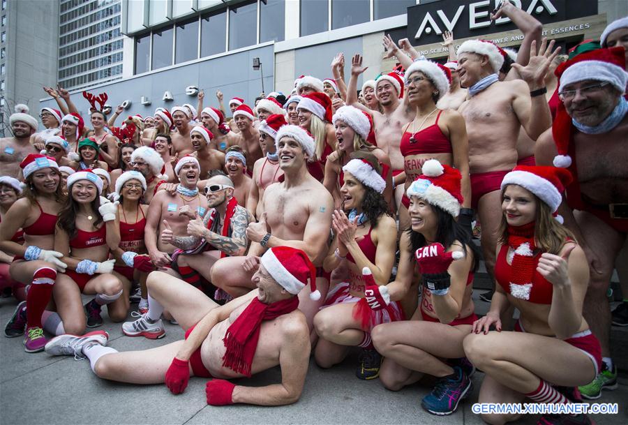
[[382,196],[386,183],[377,158],[361,151],[352,153],[351,158],[343,167],[341,188],[348,218],[342,210],[334,211],[335,236],[323,262],[327,272],[338,267],[348,269],[348,279],[331,288],[314,316],[314,328],[320,337],[314,358],[319,366],[329,368],[343,361],[350,347],[358,345],[364,351],[357,377],[372,379],[377,377],[371,366],[377,353],[371,344],[371,329],[383,322],[400,320],[401,309],[397,304],[380,311],[371,311],[368,306],[366,311],[360,308],[367,285],[362,269],[368,267],[373,272],[374,284],[388,283],[395,261],[397,231]]

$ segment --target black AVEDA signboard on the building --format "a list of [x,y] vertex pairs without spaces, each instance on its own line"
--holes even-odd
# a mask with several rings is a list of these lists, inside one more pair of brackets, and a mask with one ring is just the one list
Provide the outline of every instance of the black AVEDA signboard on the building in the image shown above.
[[[412,45],[442,41],[444,31],[456,39],[516,29],[510,20],[491,22],[501,0],[440,0],[408,8],[408,39]],[[542,24],[597,15],[597,0],[515,0]]]

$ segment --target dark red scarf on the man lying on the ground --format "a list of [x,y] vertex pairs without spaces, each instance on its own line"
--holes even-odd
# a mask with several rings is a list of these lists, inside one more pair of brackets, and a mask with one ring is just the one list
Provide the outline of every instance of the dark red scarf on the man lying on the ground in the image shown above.
[[262,320],[273,320],[281,315],[291,313],[299,306],[299,297],[290,297],[273,304],[264,304],[253,298],[248,307],[231,324],[223,343],[227,351],[223,356],[223,366],[232,371],[251,378],[251,364],[260,339]]

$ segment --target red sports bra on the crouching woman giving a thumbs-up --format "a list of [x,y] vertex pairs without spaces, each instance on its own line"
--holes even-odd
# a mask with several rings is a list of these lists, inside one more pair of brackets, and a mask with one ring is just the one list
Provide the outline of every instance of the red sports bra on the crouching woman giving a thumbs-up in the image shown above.
[[[534,270],[531,284],[516,285],[515,283],[511,283],[510,276],[512,267],[511,264],[508,264],[506,261],[507,253],[508,245],[503,245],[502,248],[500,248],[497,260],[495,260],[495,280],[504,288],[504,291],[515,298],[530,301],[535,304],[551,304],[553,285],[546,281],[536,269]],[[538,261],[540,255],[540,252],[536,253],[534,255],[535,260]]]

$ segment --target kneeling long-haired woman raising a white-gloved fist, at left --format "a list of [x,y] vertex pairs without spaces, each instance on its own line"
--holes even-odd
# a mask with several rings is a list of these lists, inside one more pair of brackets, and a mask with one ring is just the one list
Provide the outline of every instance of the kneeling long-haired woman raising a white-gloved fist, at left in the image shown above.
[[[68,177],[68,199],[59,213],[54,248],[68,264],[54,285],[54,302],[68,334],[81,335],[86,326],[81,293],[96,294],[86,304],[87,326],[102,325],[100,306],[107,304],[115,322],[126,318],[122,283],[112,273],[115,260],[107,260],[120,243],[117,204],[101,203],[103,181],[91,170]],[[128,304],[127,304],[128,305]]]

